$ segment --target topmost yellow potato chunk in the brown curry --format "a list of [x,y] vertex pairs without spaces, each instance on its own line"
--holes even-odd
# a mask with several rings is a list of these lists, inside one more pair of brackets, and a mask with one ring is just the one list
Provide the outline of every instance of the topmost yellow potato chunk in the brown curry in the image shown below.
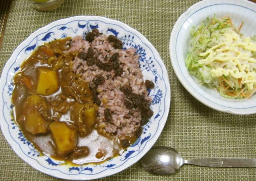
[[49,68],[39,68],[39,79],[36,93],[44,96],[51,95],[59,89],[57,72]]

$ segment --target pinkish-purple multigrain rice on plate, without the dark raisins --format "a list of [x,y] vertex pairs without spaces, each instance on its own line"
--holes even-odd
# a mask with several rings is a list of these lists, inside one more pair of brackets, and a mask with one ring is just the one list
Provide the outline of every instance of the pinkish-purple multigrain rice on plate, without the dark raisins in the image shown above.
[[[98,126],[105,129],[104,131],[120,137],[134,134],[140,126],[140,111],[138,108],[129,110],[125,107],[124,99],[126,98],[119,88],[130,83],[134,93],[144,94],[145,98],[150,101],[139,67],[139,55],[136,54],[134,48],[128,48],[126,50],[114,49],[104,34],[96,37],[92,43],[87,42],[81,36],[73,37],[69,52],[87,53],[89,47],[94,50],[94,57],[103,63],[107,62],[104,59],[106,56],[110,57],[112,54],[118,52],[118,61],[124,70],[121,76],[115,77],[114,70],[107,72],[99,69],[95,64],[88,66],[86,61],[79,59],[77,56],[74,58],[73,69],[86,82],[92,82],[98,75],[102,75],[105,78],[105,82],[97,88],[99,92],[98,97],[101,100],[97,116],[97,120],[99,121]],[[111,78],[107,79],[107,75],[111,75]],[[110,122],[104,119],[104,110],[106,108],[109,108],[112,112],[112,121]]]

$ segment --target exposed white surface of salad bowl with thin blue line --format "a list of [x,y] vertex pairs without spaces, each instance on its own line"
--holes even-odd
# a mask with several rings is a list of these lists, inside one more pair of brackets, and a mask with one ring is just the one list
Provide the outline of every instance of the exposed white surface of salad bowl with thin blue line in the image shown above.
[[187,91],[203,104],[217,111],[231,114],[256,113],[256,94],[249,99],[227,99],[214,89],[202,86],[197,79],[190,75],[185,65],[189,49],[190,30],[207,17],[225,17],[232,19],[239,27],[243,21],[241,33],[256,35],[256,4],[247,0],[203,0],[191,6],[175,23],[169,44],[172,67]]

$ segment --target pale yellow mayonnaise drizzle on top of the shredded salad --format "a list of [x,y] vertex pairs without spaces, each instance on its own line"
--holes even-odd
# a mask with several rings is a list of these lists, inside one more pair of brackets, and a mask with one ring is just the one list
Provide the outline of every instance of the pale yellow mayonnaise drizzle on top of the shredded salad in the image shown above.
[[256,64],[256,59],[252,57],[252,53],[256,52],[256,44],[251,42],[250,37],[239,35],[233,28],[225,28],[224,32],[219,44],[199,54],[203,59],[198,63],[210,65],[212,77],[230,75],[241,78],[241,83],[252,90],[256,84],[256,65],[251,67],[251,63]]

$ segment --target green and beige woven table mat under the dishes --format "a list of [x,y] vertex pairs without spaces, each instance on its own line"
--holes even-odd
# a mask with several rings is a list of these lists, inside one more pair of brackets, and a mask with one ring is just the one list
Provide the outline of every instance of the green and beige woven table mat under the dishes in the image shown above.
[[[8,1],[8,0],[3,0]],[[97,15],[135,28],[159,51],[169,73],[171,107],[155,146],[176,148],[185,159],[205,157],[255,158],[256,116],[217,112],[192,97],[177,79],[169,57],[169,37],[178,17],[197,0],[65,0],[56,10],[39,12],[27,1],[12,0],[0,49],[0,68],[14,49],[46,24],[76,15]],[[22,161],[0,133],[0,180],[58,180]],[[100,180],[256,180],[255,168],[183,166],[172,176],[154,176],[137,162]]]

